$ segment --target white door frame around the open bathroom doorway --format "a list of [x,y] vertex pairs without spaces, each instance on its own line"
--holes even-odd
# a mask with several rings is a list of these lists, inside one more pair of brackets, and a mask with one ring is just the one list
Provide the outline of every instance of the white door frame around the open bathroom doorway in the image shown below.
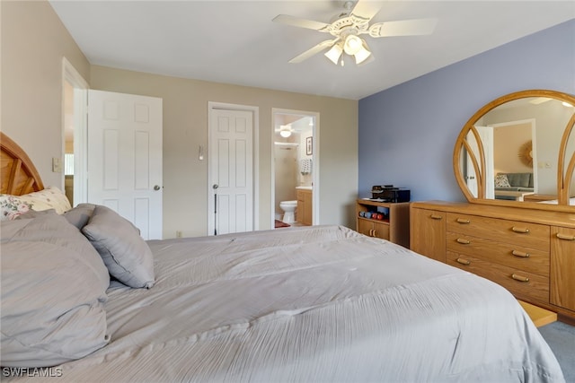
[[272,108],[271,109],[271,135],[270,135],[270,169],[271,169],[271,179],[270,179],[270,204],[271,204],[271,214],[270,214],[270,227],[275,228],[276,220],[276,164],[275,164],[275,127],[276,127],[276,115],[297,115],[304,117],[314,118],[314,126],[312,127],[312,225],[320,224],[320,113],[312,112],[307,110],[295,110],[295,109],[281,109]]

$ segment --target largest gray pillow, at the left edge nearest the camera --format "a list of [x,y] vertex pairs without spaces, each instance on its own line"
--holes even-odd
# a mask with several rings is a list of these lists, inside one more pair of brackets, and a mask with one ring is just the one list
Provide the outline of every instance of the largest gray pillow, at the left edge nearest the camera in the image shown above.
[[110,275],[56,213],[2,222],[2,366],[49,367],[108,344]]

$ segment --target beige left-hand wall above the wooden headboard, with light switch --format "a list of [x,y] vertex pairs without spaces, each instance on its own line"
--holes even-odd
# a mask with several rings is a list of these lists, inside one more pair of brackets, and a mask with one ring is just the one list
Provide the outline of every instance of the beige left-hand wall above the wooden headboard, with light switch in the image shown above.
[[0,1],[2,131],[30,155],[45,186],[64,187],[52,157],[64,158],[62,58],[86,81],[90,64],[45,1]]

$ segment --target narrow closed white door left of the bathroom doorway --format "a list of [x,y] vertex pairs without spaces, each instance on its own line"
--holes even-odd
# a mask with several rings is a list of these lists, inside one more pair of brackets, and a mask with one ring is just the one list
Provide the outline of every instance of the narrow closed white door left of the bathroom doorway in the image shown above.
[[208,235],[253,230],[253,113],[210,109]]

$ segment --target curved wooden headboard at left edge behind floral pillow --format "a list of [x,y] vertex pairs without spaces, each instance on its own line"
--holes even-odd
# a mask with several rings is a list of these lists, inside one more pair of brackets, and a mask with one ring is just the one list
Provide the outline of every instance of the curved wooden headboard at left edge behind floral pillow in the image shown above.
[[22,196],[42,190],[44,184],[28,154],[2,132],[0,132],[0,146],[2,149],[0,192]]

